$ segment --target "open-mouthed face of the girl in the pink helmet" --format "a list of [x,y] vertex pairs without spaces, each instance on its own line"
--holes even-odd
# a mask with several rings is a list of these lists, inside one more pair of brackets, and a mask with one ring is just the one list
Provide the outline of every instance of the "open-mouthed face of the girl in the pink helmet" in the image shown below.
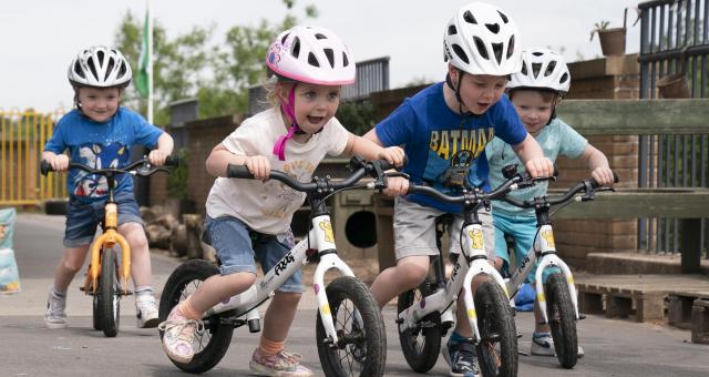
[[340,104],[340,86],[296,85],[296,121],[307,133],[316,133],[330,121]]

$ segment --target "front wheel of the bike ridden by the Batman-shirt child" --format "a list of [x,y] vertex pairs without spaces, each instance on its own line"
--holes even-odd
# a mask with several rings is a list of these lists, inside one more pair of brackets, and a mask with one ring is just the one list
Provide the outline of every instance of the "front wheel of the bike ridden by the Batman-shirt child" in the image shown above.
[[517,330],[510,300],[492,279],[475,289],[480,343],[477,361],[484,377],[517,375]]

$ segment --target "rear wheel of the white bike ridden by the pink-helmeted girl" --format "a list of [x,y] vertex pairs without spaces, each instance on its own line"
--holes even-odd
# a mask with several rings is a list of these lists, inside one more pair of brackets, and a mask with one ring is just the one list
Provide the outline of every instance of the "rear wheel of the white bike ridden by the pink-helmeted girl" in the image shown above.
[[[167,278],[163,294],[160,297],[161,323],[167,318],[173,307],[193,294],[202,282],[218,273],[217,267],[202,259],[187,261],[179,265]],[[222,318],[230,315],[234,315],[233,310],[204,318],[205,328],[203,332],[195,334],[195,340],[193,342],[195,347],[194,358],[184,364],[171,359],[173,364],[184,371],[196,374],[214,368],[222,360],[232,342],[234,326],[222,320]],[[164,335],[165,332],[161,330],[161,340]]]

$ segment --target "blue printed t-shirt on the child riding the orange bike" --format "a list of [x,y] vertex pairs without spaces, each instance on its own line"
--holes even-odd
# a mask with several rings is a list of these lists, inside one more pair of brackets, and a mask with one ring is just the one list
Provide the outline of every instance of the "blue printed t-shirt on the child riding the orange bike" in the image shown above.
[[[140,114],[120,106],[106,122],[94,122],[79,110],[64,115],[44,151],[55,154],[70,152],[70,161],[95,169],[127,165],[131,147],[135,144],[153,147],[163,131],[145,121]],[[66,191],[81,202],[105,200],[109,184],[102,175],[72,169],[66,177]],[[133,180],[127,174],[116,177],[116,193],[133,192]]]

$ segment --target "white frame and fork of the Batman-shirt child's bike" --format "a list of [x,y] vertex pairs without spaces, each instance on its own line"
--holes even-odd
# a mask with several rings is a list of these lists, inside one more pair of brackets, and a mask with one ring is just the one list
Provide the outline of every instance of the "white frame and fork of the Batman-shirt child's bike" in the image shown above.
[[448,281],[445,288],[439,288],[434,294],[422,297],[401,312],[399,314],[399,323],[400,326],[402,326],[401,330],[414,328],[417,322],[433,312],[442,313],[441,317],[452,317],[450,307],[451,305],[455,305],[459,294],[462,292],[465,303],[465,314],[470,322],[470,327],[473,329],[473,334],[475,334],[475,342],[479,343],[481,337],[477,328],[477,314],[475,312],[473,293],[470,289],[473,279],[482,274],[491,276],[500,284],[507,299],[510,298],[504,279],[487,259],[483,226],[477,220],[477,210],[472,211],[474,211],[473,221],[465,222],[466,225],[464,225],[461,231],[463,235],[461,237],[461,257],[455,262],[451,278]]

